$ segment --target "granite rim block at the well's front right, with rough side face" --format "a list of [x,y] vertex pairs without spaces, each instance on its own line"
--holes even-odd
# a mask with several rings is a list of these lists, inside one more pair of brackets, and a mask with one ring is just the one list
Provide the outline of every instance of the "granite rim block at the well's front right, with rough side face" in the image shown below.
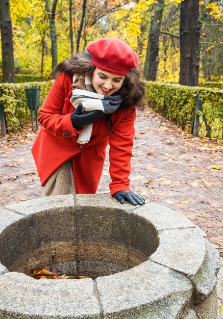
[[95,281],[103,318],[179,318],[193,290],[186,277],[151,261]]

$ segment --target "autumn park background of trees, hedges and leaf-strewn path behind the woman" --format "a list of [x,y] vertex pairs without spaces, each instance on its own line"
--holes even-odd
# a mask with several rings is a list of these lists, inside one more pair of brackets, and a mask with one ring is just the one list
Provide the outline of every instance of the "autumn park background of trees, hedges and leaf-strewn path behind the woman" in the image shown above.
[[[43,196],[25,89],[39,87],[41,105],[57,63],[120,36],[139,56],[148,101],[136,118],[131,189],[201,227],[222,261],[222,9],[211,0],[0,0],[0,204]],[[98,193],[109,193],[108,179],[107,160]]]

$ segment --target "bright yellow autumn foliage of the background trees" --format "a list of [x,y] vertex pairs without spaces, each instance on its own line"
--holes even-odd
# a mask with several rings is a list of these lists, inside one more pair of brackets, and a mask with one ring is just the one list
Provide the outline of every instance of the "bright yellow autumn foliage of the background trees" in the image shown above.
[[[183,0],[165,0],[166,7],[176,6]],[[120,9],[106,14],[108,20],[105,28],[102,23],[91,24],[97,17],[97,10],[106,11],[107,7],[118,7],[121,0],[97,2],[89,0],[87,6],[86,24],[82,31],[80,50],[85,49],[86,45],[95,39],[120,36],[137,52],[142,66],[146,55],[148,32],[150,30],[151,6],[155,0],[138,0],[131,2],[125,1]],[[200,2],[201,4],[202,2]],[[44,42],[44,75],[51,71],[51,39],[49,37],[48,14],[45,12],[45,2],[42,0],[13,0],[11,3],[11,17],[13,23],[14,57],[19,66],[24,71],[40,73],[42,43]],[[52,1],[51,1],[52,4]],[[82,2],[75,2],[73,10],[73,33],[74,39],[77,38],[77,31],[80,25]],[[70,57],[69,39],[69,2],[58,0],[56,10],[56,31],[58,41],[58,63]],[[165,10],[165,9],[164,9]],[[216,6],[211,10],[216,12]],[[90,11],[90,14],[89,14]],[[108,22],[109,21],[109,22]],[[101,23],[101,24],[100,24]],[[109,25],[108,25],[109,23]],[[43,36],[44,34],[44,36]],[[160,43],[162,47],[162,43]],[[160,49],[160,64],[158,78],[164,81],[177,82],[179,79],[179,52],[172,53],[172,48],[164,57],[163,50]]]

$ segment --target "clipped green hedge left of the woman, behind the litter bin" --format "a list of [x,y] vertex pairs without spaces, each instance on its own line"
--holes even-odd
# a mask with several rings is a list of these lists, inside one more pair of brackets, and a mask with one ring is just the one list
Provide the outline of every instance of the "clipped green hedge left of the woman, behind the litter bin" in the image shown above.
[[27,107],[25,89],[39,87],[41,105],[44,102],[52,83],[53,81],[27,82],[22,84],[0,83],[0,89],[3,91],[3,95],[0,97],[0,104],[4,105],[9,132],[22,128],[30,118],[30,110]]

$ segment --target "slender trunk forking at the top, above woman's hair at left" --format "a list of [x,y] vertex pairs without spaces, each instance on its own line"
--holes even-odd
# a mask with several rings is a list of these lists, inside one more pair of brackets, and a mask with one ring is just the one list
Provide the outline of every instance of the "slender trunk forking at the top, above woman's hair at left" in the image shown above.
[[46,11],[49,17],[49,28],[51,30],[51,54],[52,54],[52,69],[57,65],[57,34],[55,24],[55,12],[57,7],[57,1],[53,1],[52,10],[49,7],[49,0],[45,0]]

